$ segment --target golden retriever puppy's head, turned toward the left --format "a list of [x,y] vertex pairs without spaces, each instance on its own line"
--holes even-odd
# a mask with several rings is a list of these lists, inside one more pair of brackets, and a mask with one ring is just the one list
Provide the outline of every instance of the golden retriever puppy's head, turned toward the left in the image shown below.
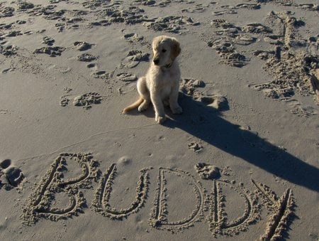
[[158,66],[169,65],[181,53],[179,41],[168,36],[158,36],[152,43],[153,63]]

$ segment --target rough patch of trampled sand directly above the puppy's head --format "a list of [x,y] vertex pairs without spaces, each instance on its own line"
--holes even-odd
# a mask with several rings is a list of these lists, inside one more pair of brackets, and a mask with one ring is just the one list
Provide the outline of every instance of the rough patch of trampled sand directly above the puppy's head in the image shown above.
[[194,19],[191,17],[166,16],[157,18],[154,22],[144,23],[143,25],[154,31],[183,33],[187,31],[186,26],[198,26],[199,24],[199,22],[194,22]]

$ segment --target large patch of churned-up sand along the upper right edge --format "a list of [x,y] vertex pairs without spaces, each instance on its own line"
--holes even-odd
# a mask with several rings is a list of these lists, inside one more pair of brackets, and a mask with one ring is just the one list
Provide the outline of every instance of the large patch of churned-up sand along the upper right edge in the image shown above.
[[[269,23],[274,26],[276,34],[269,36],[274,39],[275,49],[265,53],[259,50],[255,55],[267,60],[264,65],[274,80],[252,84],[255,90],[262,90],[264,95],[274,99],[284,100],[293,97],[295,92],[300,95],[314,95],[315,103],[319,104],[319,80],[316,71],[319,68],[318,55],[308,53],[308,48],[313,46],[313,38],[305,41],[298,33],[298,28],[303,26],[300,21],[287,12],[270,12],[267,16]],[[297,108],[298,109],[298,108]],[[303,115],[303,111],[293,111]]]

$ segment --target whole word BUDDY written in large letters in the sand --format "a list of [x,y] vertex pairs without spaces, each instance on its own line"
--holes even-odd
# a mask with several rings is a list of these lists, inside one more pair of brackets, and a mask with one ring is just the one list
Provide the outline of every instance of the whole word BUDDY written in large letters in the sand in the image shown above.
[[[202,224],[208,226],[215,238],[240,235],[252,228],[251,225],[262,222],[262,207],[265,207],[268,217],[265,218],[265,231],[259,234],[259,239],[276,240],[288,232],[295,206],[291,189],[277,197],[268,186],[251,180],[252,192],[243,183],[223,179],[217,166],[200,163],[194,168],[202,181],[209,184],[210,191],[206,191],[201,181],[188,171],[158,168],[158,173],[155,173],[157,188],[148,218],[150,227],[176,233]],[[27,225],[35,225],[40,218],[54,221],[74,218],[84,213],[84,208],[88,206],[84,191],[94,188],[95,181],[99,184],[94,192],[91,210],[110,220],[125,222],[125,218],[145,207],[150,193],[150,172],[153,170],[152,167],[140,170],[135,198],[128,207],[115,208],[110,199],[112,191],[116,191],[116,164],[111,164],[102,173],[99,162],[91,154],[60,154],[26,200],[21,218]],[[175,197],[177,186],[184,186],[182,191],[188,193],[190,203],[187,205],[191,206],[188,213],[181,212],[186,203],[172,202],[172,199],[179,198]],[[59,202],[62,196],[67,197],[68,204]],[[175,207],[174,203],[179,204]],[[236,215],[230,212],[230,206],[235,207]]]

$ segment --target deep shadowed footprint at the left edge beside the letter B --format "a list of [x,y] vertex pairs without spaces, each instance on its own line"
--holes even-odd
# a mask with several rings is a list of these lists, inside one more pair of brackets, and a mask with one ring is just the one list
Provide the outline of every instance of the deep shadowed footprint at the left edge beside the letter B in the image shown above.
[[12,166],[11,159],[0,162],[0,189],[4,186],[6,191],[17,187],[23,181],[24,175],[20,168]]

